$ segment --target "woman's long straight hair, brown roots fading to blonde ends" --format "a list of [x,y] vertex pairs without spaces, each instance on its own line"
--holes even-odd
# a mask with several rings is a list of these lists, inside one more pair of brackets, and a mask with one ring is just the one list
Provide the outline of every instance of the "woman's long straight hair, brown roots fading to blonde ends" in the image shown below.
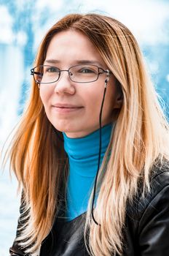
[[[149,189],[149,174],[156,159],[162,162],[169,158],[168,122],[146,73],[138,43],[129,29],[113,18],[98,14],[66,15],[42,40],[36,66],[44,63],[52,37],[66,29],[87,35],[122,90],[122,108],[98,177],[94,212],[101,225],[95,225],[91,219],[92,192],[84,229],[90,255],[109,256],[112,251],[122,255],[126,204],[132,202],[140,178],[143,192]],[[61,132],[58,135],[62,137]],[[12,170],[23,186],[26,213],[25,226],[17,240],[27,248],[25,252],[33,253],[50,232],[60,189],[67,177],[63,142],[47,119],[34,81],[28,106],[12,141],[10,157]]]

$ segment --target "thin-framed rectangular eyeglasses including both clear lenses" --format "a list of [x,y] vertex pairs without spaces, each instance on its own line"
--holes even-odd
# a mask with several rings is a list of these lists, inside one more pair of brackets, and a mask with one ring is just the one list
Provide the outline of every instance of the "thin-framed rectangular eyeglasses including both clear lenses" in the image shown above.
[[66,71],[71,81],[76,83],[91,83],[98,80],[99,75],[111,73],[101,67],[92,64],[75,65],[68,70],[60,70],[58,67],[39,65],[31,69],[36,83],[55,83],[60,78],[60,73]]

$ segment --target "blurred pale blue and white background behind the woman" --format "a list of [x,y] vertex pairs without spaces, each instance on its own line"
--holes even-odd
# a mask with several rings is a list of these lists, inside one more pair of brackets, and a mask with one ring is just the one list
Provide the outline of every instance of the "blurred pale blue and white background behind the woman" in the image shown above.
[[[98,12],[133,32],[168,116],[169,0],[0,0],[0,149],[23,113],[30,69],[47,29],[63,15]],[[9,168],[0,172],[0,255],[15,238],[20,195]]]

